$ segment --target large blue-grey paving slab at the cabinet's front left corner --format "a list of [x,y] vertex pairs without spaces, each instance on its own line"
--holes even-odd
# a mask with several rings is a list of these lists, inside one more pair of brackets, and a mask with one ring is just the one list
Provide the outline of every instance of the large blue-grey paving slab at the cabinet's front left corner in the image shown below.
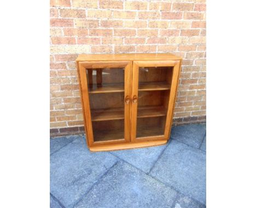
[[72,207],[117,161],[108,152],[90,152],[83,138],[74,139],[50,157],[50,192]]

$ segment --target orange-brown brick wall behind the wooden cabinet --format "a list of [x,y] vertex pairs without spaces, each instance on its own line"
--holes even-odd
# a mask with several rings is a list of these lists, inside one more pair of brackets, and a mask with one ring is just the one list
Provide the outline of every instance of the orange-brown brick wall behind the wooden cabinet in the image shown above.
[[51,0],[51,134],[83,131],[77,54],[156,52],[183,57],[174,124],[205,121],[205,0]]

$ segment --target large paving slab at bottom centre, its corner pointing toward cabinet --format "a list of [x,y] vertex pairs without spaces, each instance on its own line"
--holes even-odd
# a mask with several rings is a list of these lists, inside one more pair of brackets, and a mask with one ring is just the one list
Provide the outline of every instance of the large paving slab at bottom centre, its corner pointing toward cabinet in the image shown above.
[[119,161],[74,207],[173,207],[177,192]]

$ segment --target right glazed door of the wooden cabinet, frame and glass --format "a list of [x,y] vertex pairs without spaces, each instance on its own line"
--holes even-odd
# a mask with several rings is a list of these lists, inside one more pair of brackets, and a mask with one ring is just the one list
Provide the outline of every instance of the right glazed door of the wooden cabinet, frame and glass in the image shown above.
[[132,142],[168,139],[179,67],[179,60],[133,62]]

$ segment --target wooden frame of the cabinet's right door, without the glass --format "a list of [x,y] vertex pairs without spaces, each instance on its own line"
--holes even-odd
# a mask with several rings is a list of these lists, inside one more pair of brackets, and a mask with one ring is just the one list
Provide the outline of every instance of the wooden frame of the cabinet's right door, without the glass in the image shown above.
[[165,132],[164,136],[150,136],[150,137],[139,137],[136,138],[136,130],[137,130],[137,103],[132,102],[131,108],[131,142],[142,142],[149,140],[160,140],[160,139],[168,139],[170,136],[170,129],[172,124],[172,115],[174,109],[174,101],[176,97],[176,91],[178,86],[178,77],[179,71],[181,68],[180,60],[159,60],[159,61],[133,61],[132,64],[132,96],[138,97],[138,76],[139,76],[139,67],[156,67],[156,66],[173,66],[172,70],[172,81],[170,88],[170,97],[168,101],[168,111],[166,115],[166,123],[165,123]]

